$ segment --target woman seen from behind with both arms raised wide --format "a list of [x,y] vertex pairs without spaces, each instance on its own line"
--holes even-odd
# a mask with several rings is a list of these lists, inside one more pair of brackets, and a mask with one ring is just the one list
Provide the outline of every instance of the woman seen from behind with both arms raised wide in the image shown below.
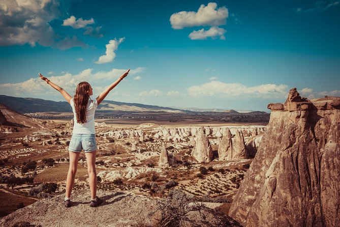
[[130,69],[123,73],[119,79],[107,87],[96,99],[90,98],[92,87],[88,82],[80,82],[76,88],[74,97],[71,97],[64,89],[51,82],[39,73],[41,79],[45,80],[52,88],[57,90],[70,103],[74,115],[74,126],[69,145],[70,167],[66,179],[66,194],[64,198],[65,207],[71,207],[71,191],[77,172],[78,159],[81,150],[84,150],[87,162],[87,172],[91,192],[91,207],[97,207],[103,201],[97,196],[97,174],[96,174],[96,137],[95,137],[95,111],[97,106],[104,100],[109,92],[125,78]]

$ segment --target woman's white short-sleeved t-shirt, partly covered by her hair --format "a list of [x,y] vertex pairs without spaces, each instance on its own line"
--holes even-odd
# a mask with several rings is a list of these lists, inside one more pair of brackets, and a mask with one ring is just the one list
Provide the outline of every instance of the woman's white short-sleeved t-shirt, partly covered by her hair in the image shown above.
[[97,99],[88,99],[86,108],[86,122],[83,124],[77,123],[76,108],[74,107],[73,97],[70,101],[70,105],[73,110],[73,132],[74,134],[96,134],[95,130],[95,112],[98,106]]

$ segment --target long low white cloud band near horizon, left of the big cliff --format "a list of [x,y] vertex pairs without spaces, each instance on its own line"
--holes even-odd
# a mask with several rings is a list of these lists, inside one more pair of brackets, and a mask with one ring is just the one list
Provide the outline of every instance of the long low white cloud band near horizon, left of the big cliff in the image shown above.
[[285,84],[262,84],[260,86],[248,87],[241,83],[224,83],[211,81],[199,86],[192,86],[188,89],[191,96],[217,96],[224,98],[242,97],[285,97],[288,93],[288,86]]

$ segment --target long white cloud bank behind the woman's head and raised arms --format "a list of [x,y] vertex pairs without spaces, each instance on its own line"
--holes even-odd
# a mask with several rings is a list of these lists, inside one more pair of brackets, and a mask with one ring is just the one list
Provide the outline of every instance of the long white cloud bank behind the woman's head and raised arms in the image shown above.
[[[131,69],[129,74],[140,73],[144,68],[139,67]],[[81,81],[87,81],[94,88],[94,94],[102,92],[105,86],[108,86],[107,80],[110,82],[115,81],[122,73],[126,72],[126,69],[111,69],[110,71],[94,72],[93,69],[85,69],[78,74],[71,74],[63,72],[58,76],[47,76],[49,80],[58,84],[61,88],[64,88],[70,95],[73,95],[76,86]],[[48,74],[48,73],[47,73]],[[105,82],[105,83],[104,83]],[[100,89],[100,90],[98,90]],[[53,88],[48,86],[45,81],[37,77],[30,78],[24,82],[18,83],[0,83],[1,94],[9,96],[20,96],[20,97],[37,97],[42,96],[59,96]],[[151,92],[152,94],[154,92]]]

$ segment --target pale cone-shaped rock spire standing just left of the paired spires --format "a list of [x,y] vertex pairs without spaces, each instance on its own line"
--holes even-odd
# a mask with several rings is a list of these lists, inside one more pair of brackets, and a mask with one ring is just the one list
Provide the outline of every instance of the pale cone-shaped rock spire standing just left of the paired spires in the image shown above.
[[191,152],[191,155],[198,162],[209,162],[212,160],[212,149],[209,139],[204,133],[204,128],[199,128],[197,136],[195,138],[195,146]]

